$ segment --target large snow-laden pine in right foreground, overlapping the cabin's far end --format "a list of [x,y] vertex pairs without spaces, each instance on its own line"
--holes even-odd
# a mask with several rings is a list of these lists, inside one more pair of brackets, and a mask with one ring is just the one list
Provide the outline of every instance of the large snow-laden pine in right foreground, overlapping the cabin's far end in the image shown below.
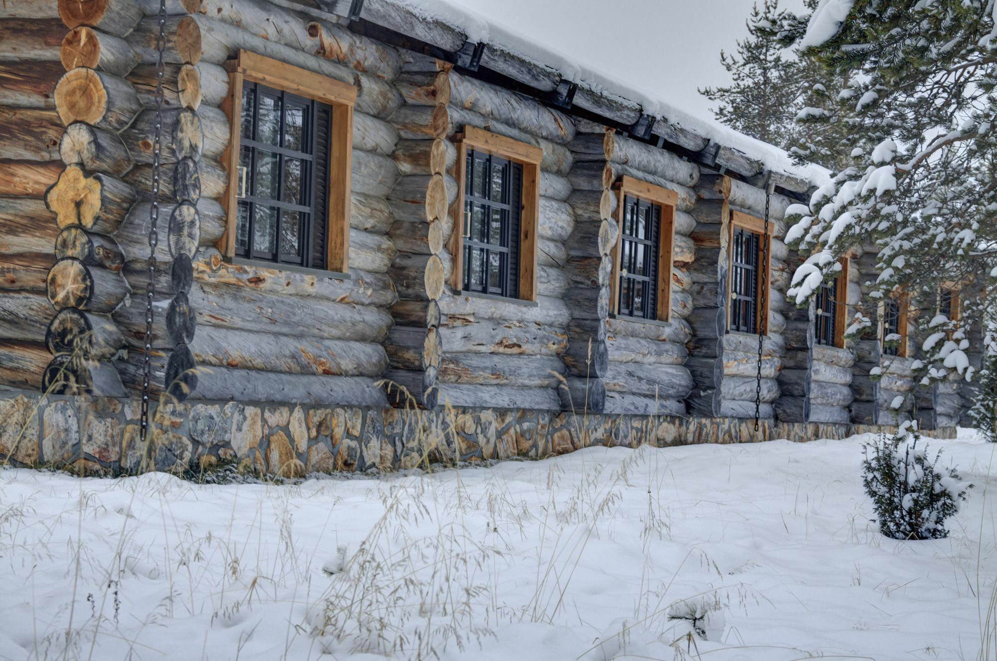
[[[971,378],[969,326],[997,328],[995,11],[994,0],[822,0],[782,25],[784,43],[847,76],[837,98],[855,159],[787,213],[787,241],[814,251],[790,295],[805,302],[849,248],[877,246],[876,293],[929,311],[917,322],[924,385]],[[958,322],[937,313],[943,286],[960,290]]]

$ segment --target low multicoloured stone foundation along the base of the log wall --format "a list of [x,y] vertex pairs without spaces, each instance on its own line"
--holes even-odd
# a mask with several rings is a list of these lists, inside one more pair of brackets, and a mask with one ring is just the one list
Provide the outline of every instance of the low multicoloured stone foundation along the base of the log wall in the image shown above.
[[[246,472],[300,477],[392,471],[426,463],[540,459],[589,446],[802,442],[892,431],[768,420],[756,432],[753,420],[736,418],[191,402],[154,405],[153,424],[143,445],[139,404],[133,398],[0,392],[0,457],[16,466],[90,474],[197,472],[219,461],[234,461]],[[954,438],[955,429],[928,434]]]

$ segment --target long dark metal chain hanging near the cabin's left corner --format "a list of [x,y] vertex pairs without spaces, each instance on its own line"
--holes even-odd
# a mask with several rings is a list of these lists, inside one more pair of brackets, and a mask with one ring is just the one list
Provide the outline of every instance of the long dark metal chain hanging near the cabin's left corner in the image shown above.
[[156,39],[156,132],[153,138],[153,204],[149,208],[149,284],[146,286],[146,341],[142,371],[142,415],[139,439],[143,444],[149,432],[149,382],[153,369],[153,297],[156,295],[156,244],[160,219],[160,148],[163,143],[163,54],[166,51],[166,0],[160,0],[160,34]]

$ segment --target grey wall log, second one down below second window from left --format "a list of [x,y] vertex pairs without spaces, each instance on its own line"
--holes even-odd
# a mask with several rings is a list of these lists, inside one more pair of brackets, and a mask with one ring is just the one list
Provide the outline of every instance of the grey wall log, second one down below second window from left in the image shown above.
[[466,326],[441,326],[440,338],[448,353],[558,356],[567,347],[562,327],[521,321],[488,320]]

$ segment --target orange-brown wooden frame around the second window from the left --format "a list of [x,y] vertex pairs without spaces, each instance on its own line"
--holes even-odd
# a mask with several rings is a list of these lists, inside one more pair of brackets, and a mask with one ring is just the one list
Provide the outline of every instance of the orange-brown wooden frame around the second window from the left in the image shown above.
[[454,274],[451,284],[454,292],[460,295],[481,295],[479,292],[464,291],[464,190],[467,184],[468,150],[497,156],[506,161],[522,165],[522,191],[519,213],[519,273],[515,298],[508,300],[536,301],[536,271],[539,253],[538,225],[540,213],[540,162],[543,150],[532,145],[499,136],[478,127],[466,126],[464,131],[453,139],[457,147],[457,163],[453,174],[457,179],[457,201],[451,207],[454,219],[454,233],[450,239],[450,251],[454,258]]

